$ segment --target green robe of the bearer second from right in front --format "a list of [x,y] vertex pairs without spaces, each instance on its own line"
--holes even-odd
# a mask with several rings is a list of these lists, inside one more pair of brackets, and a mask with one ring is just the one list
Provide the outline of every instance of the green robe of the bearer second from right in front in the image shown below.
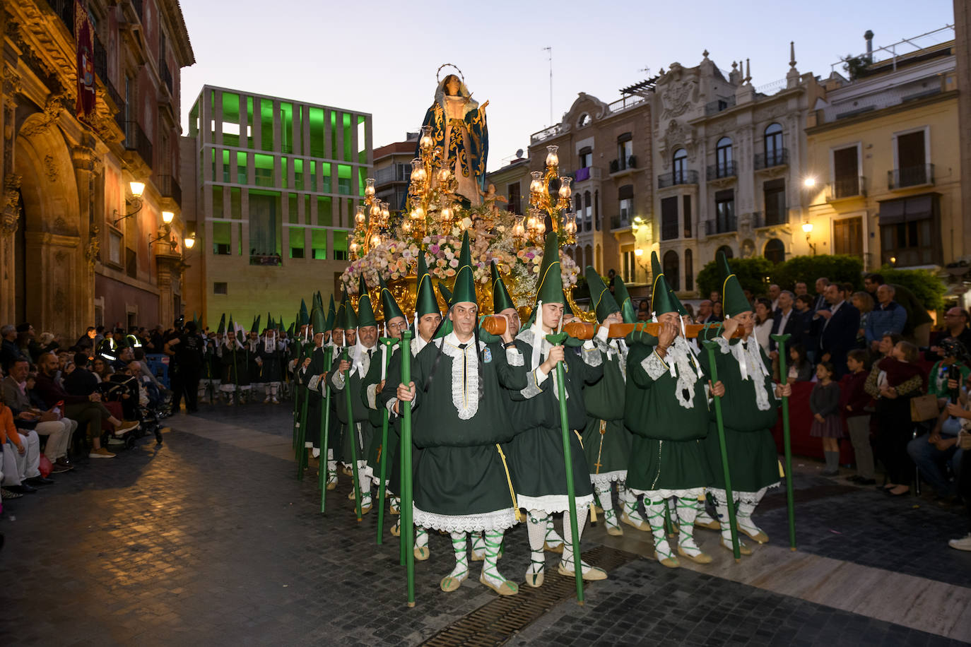
[[[670,361],[674,351],[667,356]],[[690,360],[689,360],[690,361]],[[692,366],[696,366],[693,365]],[[627,353],[624,422],[634,433],[627,487],[638,494],[658,490],[679,492],[707,486],[712,479],[704,438],[708,435],[707,377],[697,377],[682,365],[672,377],[669,365],[653,346],[634,344]],[[679,495],[680,496],[680,495]]]

